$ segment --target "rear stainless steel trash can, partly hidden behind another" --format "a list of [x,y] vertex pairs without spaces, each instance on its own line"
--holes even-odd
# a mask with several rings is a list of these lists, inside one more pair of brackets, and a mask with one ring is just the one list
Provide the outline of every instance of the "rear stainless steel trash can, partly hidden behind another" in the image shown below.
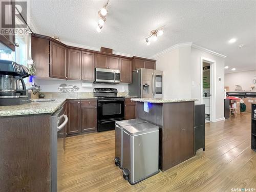
[[123,126],[133,125],[138,123],[145,123],[141,119],[129,119],[123,121],[116,121],[116,132],[115,132],[115,145],[116,145],[116,154],[115,154],[115,164],[119,166],[121,169],[123,168],[122,163],[122,139],[123,139]]

